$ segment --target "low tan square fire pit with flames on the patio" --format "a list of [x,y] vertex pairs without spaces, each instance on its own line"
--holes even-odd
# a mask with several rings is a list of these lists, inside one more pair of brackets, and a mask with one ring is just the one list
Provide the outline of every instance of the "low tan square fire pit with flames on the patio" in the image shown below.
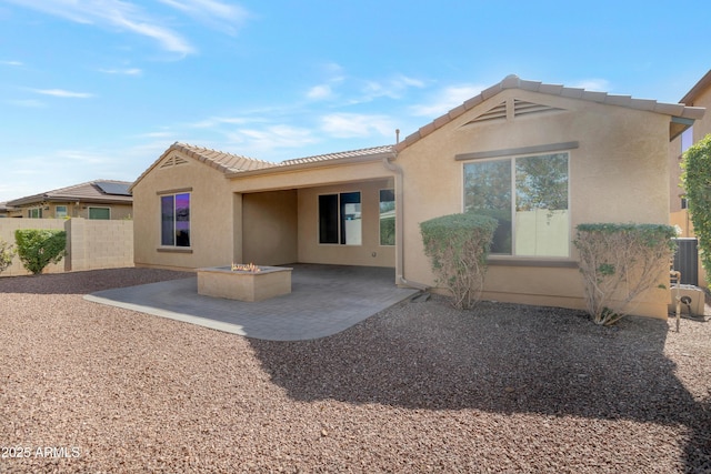
[[198,294],[250,302],[289,294],[291,270],[251,263],[198,269]]

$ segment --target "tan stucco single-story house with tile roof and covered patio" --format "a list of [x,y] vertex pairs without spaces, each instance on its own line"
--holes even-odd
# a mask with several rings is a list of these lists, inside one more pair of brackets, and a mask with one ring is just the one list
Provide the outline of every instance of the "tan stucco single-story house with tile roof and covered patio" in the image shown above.
[[[483,297],[582,309],[575,225],[669,222],[669,142],[703,113],[509,75],[394,145],[271,163],[174,143],[131,186],[134,262],[389,266],[435,288],[419,224],[473,210],[500,222]],[[665,317],[668,297],[635,312]]]

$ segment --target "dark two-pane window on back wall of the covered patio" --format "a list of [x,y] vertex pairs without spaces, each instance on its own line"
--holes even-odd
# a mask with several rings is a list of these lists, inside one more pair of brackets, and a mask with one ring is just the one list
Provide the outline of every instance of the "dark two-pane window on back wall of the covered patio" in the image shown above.
[[361,244],[360,192],[319,195],[319,243]]

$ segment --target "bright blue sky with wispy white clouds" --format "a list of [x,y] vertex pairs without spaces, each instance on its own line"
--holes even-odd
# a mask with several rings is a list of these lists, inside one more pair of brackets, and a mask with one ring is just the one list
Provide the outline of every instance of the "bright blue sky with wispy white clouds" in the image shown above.
[[708,1],[0,0],[0,201],[133,181],[171,143],[394,143],[522,79],[678,102]]

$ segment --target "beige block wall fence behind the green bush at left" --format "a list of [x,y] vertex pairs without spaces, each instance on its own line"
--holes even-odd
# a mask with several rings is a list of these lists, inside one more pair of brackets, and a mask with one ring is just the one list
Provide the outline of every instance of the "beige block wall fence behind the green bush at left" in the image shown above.
[[[133,266],[133,221],[72,219],[0,219],[0,240],[14,244],[18,229],[57,229],[67,232],[67,255],[43,273]],[[17,250],[17,248],[16,248]],[[2,276],[30,274],[16,255]]]

